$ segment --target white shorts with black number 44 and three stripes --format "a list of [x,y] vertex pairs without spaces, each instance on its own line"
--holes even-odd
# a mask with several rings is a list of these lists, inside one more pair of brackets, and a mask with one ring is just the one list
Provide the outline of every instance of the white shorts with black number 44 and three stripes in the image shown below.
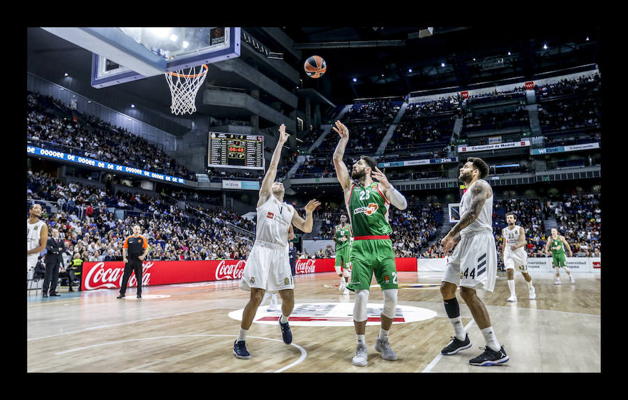
[[497,250],[492,232],[468,235],[456,245],[442,281],[492,292],[497,277]]

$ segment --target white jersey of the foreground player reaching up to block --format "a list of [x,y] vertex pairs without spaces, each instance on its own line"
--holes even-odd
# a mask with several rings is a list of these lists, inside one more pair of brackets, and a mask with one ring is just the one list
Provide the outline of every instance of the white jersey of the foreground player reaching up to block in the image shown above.
[[280,202],[274,195],[257,207],[255,242],[288,246],[287,235],[292,223],[294,208]]

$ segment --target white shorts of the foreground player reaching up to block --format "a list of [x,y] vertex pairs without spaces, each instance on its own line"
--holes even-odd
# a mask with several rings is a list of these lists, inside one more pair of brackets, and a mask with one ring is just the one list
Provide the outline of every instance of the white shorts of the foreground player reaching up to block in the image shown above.
[[246,260],[239,287],[268,292],[294,289],[287,246],[264,246],[256,242]]

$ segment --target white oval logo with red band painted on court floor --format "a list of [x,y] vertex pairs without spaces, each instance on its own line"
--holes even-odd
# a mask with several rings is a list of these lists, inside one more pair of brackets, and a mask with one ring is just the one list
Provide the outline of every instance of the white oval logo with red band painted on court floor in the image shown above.
[[[254,323],[274,325],[277,323],[277,311],[265,311],[265,307],[255,314]],[[366,325],[381,325],[383,304],[367,304]],[[234,320],[241,320],[244,309],[229,313]],[[421,309],[414,306],[397,305],[393,323],[413,323],[421,320],[435,318],[436,311]],[[353,303],[305,303],[294,304],[290,313],[291,326],[354,326]]]

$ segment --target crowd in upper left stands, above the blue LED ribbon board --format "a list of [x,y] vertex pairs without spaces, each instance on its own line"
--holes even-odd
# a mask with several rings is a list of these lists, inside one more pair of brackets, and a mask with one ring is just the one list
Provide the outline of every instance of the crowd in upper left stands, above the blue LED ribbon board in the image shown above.
[[93,115],[83,114],[83,122],[61,117],[56,108],[73,112],[52,96],[27,94],[27,140],[33,145],[195,180],[195,174],[144,138]]

